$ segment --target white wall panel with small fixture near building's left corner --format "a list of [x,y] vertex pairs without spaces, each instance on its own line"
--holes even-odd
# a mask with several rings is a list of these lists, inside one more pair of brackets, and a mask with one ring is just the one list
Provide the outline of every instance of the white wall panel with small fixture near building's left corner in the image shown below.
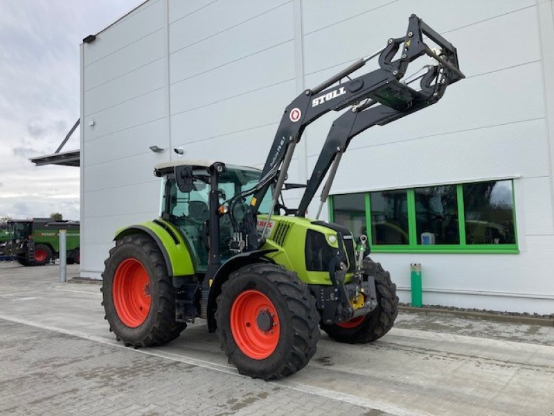
[[[164,118],[167,114],[166,94],[166,88],[157,89],[85,117],[85,141]],[[91,121],[94,121],[92,126],[89,125]]]

